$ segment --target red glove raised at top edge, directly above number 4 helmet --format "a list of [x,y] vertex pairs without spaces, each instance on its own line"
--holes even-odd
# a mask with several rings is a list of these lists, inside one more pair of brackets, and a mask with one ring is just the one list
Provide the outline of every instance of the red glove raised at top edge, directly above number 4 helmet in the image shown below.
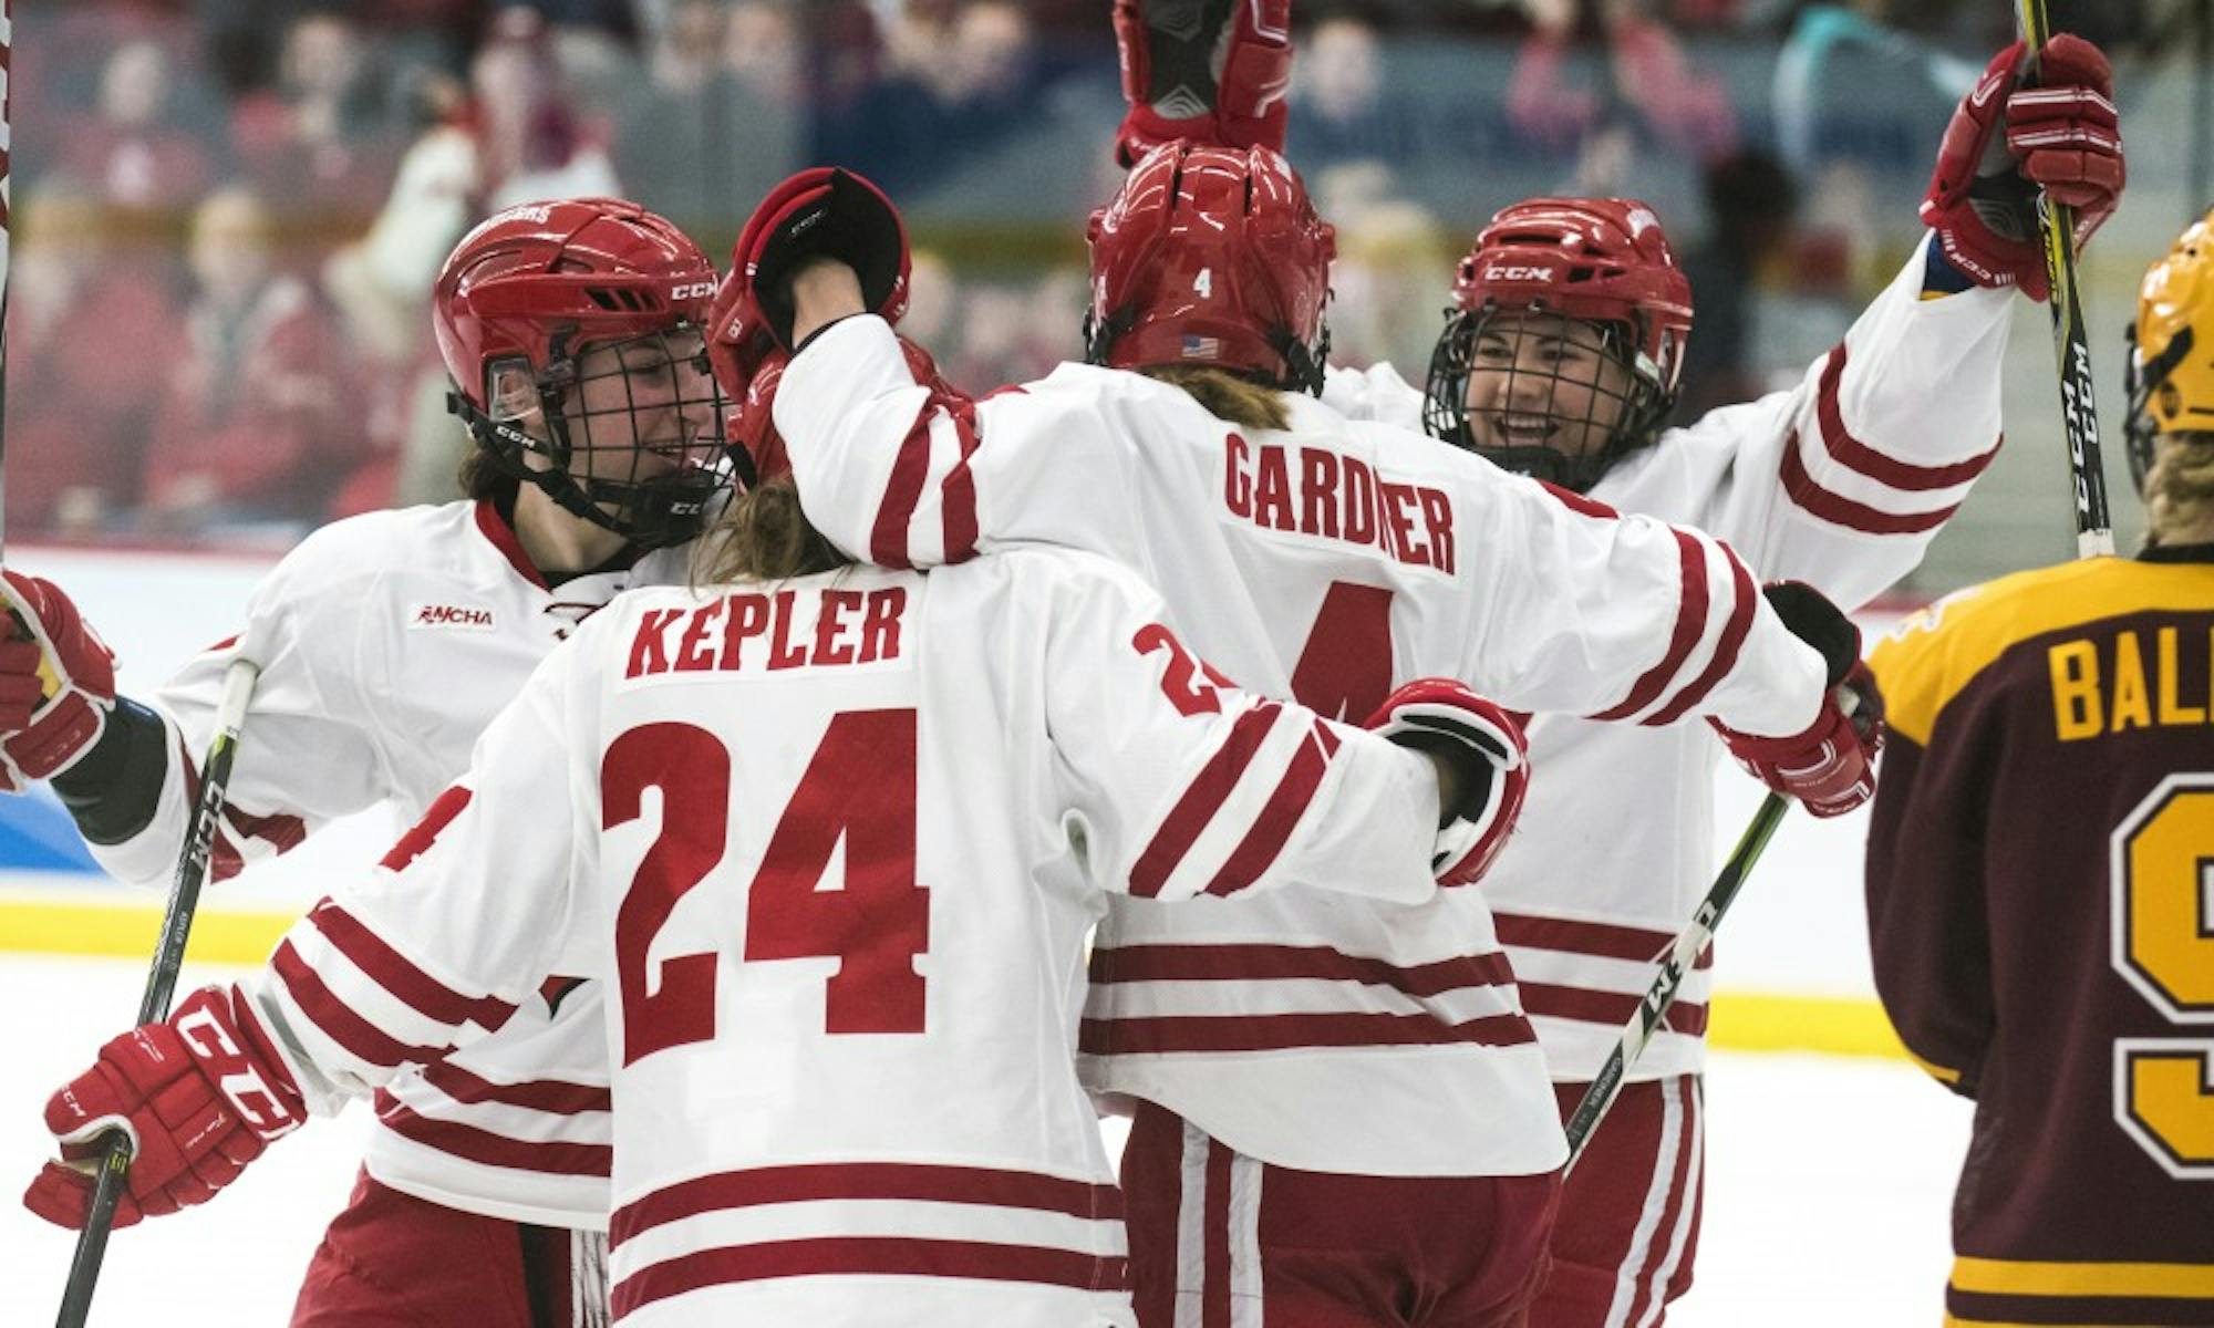
[[1116,0],[1114,38],[1129,104],[1120,166],[1176,139],[1284,151],[1291,0]]

